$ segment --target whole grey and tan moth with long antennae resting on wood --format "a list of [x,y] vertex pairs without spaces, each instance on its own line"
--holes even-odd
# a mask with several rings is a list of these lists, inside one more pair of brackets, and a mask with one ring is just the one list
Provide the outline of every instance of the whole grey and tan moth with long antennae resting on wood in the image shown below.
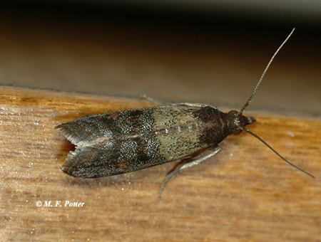
[[161,185],[158,194],[161,198],[165,184],[174,174],[218,154],[221,150],[218,144],[225,137],[245,131],[263,142],[292,167],[313,177],[287,161],[267,142],[248,130],[245,126],[255,122],[255,118],[243,115],[267,69],[293,31],[294,28],[275,51],[240,111],[225,113],[210,105],[178,103],[103,112],[58,125],[56,128],[76,145],[75,151],[68,153],[62,167],[63,172],[73,177],[108,177],[182,160]]

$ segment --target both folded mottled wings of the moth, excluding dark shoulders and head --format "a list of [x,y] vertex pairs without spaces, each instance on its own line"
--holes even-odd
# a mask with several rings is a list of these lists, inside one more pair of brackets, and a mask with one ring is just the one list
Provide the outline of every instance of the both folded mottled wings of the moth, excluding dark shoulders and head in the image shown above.
[[63,172],[73,177],[106,177],[133,172],[201,152],[206,123],[203,107],[185,105],[104,112],[58,125],[76,150]]

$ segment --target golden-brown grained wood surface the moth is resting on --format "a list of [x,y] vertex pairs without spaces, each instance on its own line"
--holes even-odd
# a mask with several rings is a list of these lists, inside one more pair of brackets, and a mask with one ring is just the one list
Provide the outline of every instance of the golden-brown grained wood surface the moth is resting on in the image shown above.
[[161,182],[177,162],[75,179],[60,169],[73,147],[54,129],[150,102],[19,88],[0,93],[4,241],[321,241],[320,120],[245,112],[257,117],[250,130],[316,179],[243,133],[228,137],[213,159],[176,175],[159,200]]

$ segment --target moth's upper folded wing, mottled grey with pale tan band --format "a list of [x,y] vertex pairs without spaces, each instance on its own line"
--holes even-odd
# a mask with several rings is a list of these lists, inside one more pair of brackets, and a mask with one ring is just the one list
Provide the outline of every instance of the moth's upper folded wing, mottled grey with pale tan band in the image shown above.
[[73,144],[89,144],[99,138],[144,134],[195,122],[200,107],[158,106],[103,112],[78,117],[56,128]]

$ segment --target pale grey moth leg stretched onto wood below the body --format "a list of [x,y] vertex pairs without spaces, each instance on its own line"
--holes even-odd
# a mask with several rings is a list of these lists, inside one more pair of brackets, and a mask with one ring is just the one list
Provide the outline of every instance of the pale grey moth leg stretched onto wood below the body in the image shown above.
[[210,154],[203,154],[200,157],[196,157],[194,159],[187,159],[185,162],[180,164],[179,167],[177,167],[175,170],[173,170],[173,172],[170,172],[170,174],[168,174],[168,176],[165,178],[165,181],[163,181],[163,183],[161,185],[161,189],[159,189],[158,197],[161,199],[161,195],[162,195],[162,192],[163,192],[163,189],[164,189],[166,183],[168,182],[168,180],[170,178],[172,178],[181,169],[186,169],[186,168],[189,168],[189,167],[193,167],[193,166],[195,166],[197,164],[200,164],[200,162],[203,162],[203,161],[205,161],[205,159],[213,157],[215,154],[218,154],[218,152],[220,152],[221,150],[222,149],[219,146],[217,146],[212,150],[212,152],[210,152]]

